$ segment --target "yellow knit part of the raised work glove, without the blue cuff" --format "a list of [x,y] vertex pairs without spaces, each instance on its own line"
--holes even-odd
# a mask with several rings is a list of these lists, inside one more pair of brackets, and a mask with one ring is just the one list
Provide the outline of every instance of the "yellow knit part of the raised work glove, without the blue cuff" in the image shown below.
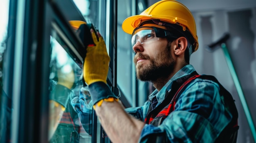
[[92,29],[90,29],[90,32],[96,46],[89,45],[86,49],[87,52],[83,64],[83,78],[88,85],[97,81],[107,83],[110,57],[107,53],[106,44],[99,32],[97,32],[99,41]]

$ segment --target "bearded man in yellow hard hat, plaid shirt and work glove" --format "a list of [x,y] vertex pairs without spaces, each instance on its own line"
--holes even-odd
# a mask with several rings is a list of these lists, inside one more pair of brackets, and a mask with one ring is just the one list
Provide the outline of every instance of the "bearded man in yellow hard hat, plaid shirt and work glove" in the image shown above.
[[[189,79],[198,77],[189,64],[190,55],[198,49],[191,12],[180,2],[162,0],[124,20],[122,28],[132,35],[137,78],[152,82],[156,90],[144,106],[124,109],[106,84],[110,58],[103,38],[97,32],[97,41],[91,30],[96,46],[87,48],[83,76],[94,110],[110,140],[223,142],[220,137],[227,131],[233,114],[224,106],[222,86],[209,79]],[[188,84],[180,88],[185,81]]]

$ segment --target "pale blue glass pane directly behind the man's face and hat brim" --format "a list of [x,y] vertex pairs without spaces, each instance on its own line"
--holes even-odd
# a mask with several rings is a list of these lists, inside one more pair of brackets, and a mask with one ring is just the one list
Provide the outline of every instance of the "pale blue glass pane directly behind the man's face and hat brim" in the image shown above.
[[[148,90],[151,86],[148,82],[139,81],[136,78],[131,35],[125,33],[121,25],[129,16],[144,11],[147,8],[147,1],[137,0],[137,3],[131,0],[117,1],[117,84],[132,106],[142,106],[151,93]],[[136,90],[136,88],[139,89]]]

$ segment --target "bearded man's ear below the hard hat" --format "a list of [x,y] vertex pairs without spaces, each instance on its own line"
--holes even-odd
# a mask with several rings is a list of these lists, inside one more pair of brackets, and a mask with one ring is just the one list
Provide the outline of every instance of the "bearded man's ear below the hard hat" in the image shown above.
[[185,52],[187,47],[187,41],[185,37],[179,37],[175,40],[176,48],[174,49],[175,55],[181,55]]

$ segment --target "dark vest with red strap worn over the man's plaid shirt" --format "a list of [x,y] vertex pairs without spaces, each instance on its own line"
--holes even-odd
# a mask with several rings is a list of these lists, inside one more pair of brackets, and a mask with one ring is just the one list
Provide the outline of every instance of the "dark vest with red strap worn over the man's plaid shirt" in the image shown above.
[[[225,106],[225,110],[227,110],[227,112],[230,112],[232,114],[232,120],[225,127],[225,129],[222,130],[222,132],[216,139],[215,143],[236,143],[239,125],[238,125],[238,111],[237,111],[234,99],[232,95],[219,83],[219,81],[211,75],[196,74],[190,78],[188,77],[184,79],[178,79],[180,81],[177,81],[176,83],[173,82],[172,90],[171,92],[168,92],[164,101],[162,101],[162,103],[159,104],[153,110],[150,110],[151,108],[151,105],[150,105],[144,122],[147,124],[155,125],[155,126],[160,125],[162,121],[166,117],[168,117],[168,115],[173,110],[175,110],[176,100],[180,97],[181,93],[186,89],[186,86],[189,85],[189,83],[196,78],[207,79],[207,80],[216,82],[220,86],[220,91],[219,91],[220,97],[222,99],[223,105]],[[182,84],[183,80],[185,82]],[[168,99],[170,99],[171,101]]]

